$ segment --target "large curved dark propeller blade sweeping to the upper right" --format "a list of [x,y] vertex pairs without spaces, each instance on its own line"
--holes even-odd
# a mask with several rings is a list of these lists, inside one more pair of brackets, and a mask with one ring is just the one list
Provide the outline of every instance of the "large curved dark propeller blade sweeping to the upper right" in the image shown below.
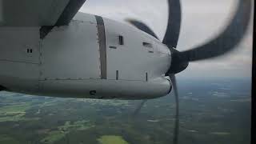
[[[223,30],[221,34],[201,46],[177,53],[176,58],[178,58],[179,61],[192,62],[218,57],[226,54],[230,50],[234,50],[246,34],[250,22],[250,12],[251,0],[239,0],[234,18],[230,20],[229,25],[226,26],[226,29]],[[166,44],[168,44],[168,42]]]

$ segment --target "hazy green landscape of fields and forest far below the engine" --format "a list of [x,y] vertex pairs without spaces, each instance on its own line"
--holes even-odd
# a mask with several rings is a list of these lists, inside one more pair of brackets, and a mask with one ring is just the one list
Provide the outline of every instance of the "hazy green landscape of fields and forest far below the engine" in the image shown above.
[[[180,144],[250,143],[250,86],[183,83]],[[0,92],[0,144],[171,143],[174,97],[149,100],[134,117],[140,102]]]

